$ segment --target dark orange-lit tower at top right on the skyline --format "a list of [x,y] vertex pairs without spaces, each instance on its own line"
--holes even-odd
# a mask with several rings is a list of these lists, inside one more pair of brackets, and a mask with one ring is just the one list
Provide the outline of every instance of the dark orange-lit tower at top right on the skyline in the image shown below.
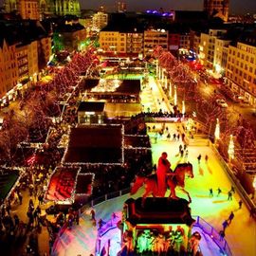
[[229,19],[229,0],[204,0],[204,10],[210,16],[219,17],[227,22]]

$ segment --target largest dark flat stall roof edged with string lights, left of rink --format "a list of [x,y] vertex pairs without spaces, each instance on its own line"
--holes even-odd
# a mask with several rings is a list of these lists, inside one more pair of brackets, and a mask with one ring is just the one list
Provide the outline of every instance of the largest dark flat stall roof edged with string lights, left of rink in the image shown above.
[[71,128],[63,164],[122,164],[123,130],[121,125],[85,125]]

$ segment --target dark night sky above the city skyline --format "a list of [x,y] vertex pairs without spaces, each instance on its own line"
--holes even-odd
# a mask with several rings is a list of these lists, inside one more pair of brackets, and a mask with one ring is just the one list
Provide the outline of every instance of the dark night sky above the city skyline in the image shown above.
[[[98,9],[104,5],[107,10],[113,10],[117,0],[80,0],[82,9]],[[203,9],[203,0],[119,0],[127,3],[128,10],[145,9]],[[256,13],[255,0],[229,0],[229,13]],[[0,0],[2,6],[4,0]]]

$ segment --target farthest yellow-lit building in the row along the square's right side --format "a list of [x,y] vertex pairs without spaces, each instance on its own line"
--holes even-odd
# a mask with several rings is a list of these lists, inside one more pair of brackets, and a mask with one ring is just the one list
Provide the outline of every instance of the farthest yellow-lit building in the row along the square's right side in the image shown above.
[[201,33],[199,59],[201,64],[213,68],[215,41],[227,32],[226,29],[210,29],[209,33]]

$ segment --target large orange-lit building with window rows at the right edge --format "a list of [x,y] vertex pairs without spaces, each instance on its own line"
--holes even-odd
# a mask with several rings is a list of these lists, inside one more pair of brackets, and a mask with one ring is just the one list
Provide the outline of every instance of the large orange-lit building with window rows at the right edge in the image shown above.
[[226,69],[229,87],[250,104],[256,104],[256,41],[253,40],[251,44],[238,42],[229,46]]

